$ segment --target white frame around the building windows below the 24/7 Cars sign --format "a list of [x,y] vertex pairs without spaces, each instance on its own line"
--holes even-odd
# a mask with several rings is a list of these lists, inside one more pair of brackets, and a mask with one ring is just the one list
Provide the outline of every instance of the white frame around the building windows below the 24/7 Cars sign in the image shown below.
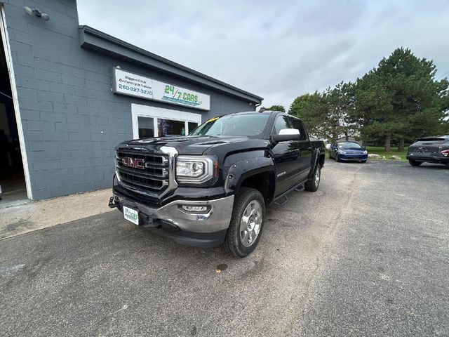
[[131,103],[131,117],[133,119],[133,138],[139,138],[139,121],[138,117],[147,117],[153,119],[154,137],[160,137],[157,119],[170,119],[172,121],[185,122],[185,134],[189,134],[189,122],[201,124],[201,114],[193,112],[185,112],[179,110],[170,110],[163,107],[152,107],[149,105],[140,105]]

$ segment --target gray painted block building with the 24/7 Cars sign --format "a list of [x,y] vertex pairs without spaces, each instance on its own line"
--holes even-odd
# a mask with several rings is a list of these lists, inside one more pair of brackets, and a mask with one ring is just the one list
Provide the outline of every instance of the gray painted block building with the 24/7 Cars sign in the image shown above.
[[20,184],[29,199],[109,187],[117,143],[184,135],[262,102],[80,27],[75,0],[0,0],[0,11],[0,197]]

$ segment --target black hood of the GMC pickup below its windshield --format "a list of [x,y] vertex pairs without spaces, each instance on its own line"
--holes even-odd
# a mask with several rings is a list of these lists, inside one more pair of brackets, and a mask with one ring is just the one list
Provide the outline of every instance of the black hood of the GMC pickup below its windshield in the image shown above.
[[[239,145],[236,145],[239,143]],[[214,153],[217,147],[243,150],[246,148],[266,147],[267,140],[253,139],[244,136],[180,136],[180,137],[159,137],[128,140],[121,143],[117,148],[142,148],[159,151],[163,146],[175,147],[179,154],[200,155],[203,153]],[[209,150],[210,149],[210,150]],[[223,149],[224,150],[224,149]]]

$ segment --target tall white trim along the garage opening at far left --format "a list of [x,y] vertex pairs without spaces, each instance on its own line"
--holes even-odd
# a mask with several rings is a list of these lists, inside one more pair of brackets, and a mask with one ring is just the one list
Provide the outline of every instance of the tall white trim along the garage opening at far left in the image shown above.
[[31,189],[31,179],[29,178],[28,158],[27,158],[27,151],[25,150],[25,137],[23,136],[22,117],[20,117],[19,98],[17,88],[15,86],[13,58],[11,56],[11,47],[9,46],[8,29],[6,26],[6,15],[2,4],[0,4],[0,34],[1,39],[3,40],[3,46],[0,46],[0,48],[4,48],[6,67],[8,68],[9,81],[11,83],[11,93],[13,97],[15,121],[17,124],[17,131],[19,136],[20,153],[22,154],[23,174],[25,175],[25,185],[27,187],[27,197],[28,199],[32,200],[33,194]]

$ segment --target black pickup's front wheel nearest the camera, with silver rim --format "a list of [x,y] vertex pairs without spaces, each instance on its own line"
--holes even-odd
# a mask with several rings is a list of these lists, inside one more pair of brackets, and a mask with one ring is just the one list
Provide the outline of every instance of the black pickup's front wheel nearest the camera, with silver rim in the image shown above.
[[[258,211],[255,211],[256,209]],[[256,213],[249,216],[253,211]],[[257,216],[257,212],[259,216]],[[248,218],[246,221],[248,225],[245,225],[243,222],[243,216]],[[259,220],[257,220],[258,217],[260,217]],[[259,243],[264,227],[264,219],[265,201],[262,194],[254,188],[241,187],[234,199],[231,223],[222,247],[237,258],[248,256]],[[246,230],[241,230],[245,226]],[[256,235],[255,239],[253,238],[254,234]]]

